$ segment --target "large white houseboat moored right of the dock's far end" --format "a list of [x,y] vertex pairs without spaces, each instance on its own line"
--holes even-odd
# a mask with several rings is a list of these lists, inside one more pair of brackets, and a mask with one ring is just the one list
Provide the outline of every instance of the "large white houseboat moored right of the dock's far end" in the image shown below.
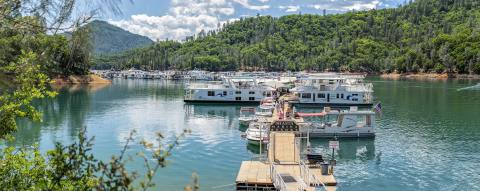
[[300,78],[290,89],[297,97],[296,104],[328,106],[371,106],[373,85],[364,83],[363,75],[322,74]]

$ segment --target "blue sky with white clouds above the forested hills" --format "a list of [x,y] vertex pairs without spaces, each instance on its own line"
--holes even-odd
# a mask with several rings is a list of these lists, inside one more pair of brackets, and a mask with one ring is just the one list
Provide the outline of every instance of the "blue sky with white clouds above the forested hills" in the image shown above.
[[123,0],[122,14],[98,19],[152,40],[183,40],[219,24],[257,14],[327,14],[396,7],[404,0]]

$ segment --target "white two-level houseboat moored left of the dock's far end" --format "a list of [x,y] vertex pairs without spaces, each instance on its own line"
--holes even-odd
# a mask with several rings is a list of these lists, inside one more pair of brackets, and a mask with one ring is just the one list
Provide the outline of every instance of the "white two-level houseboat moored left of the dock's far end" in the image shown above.
[[185,87],[185,102],[260,102],[275,89],[252,77],[225,77],[222,82],[191,83]]

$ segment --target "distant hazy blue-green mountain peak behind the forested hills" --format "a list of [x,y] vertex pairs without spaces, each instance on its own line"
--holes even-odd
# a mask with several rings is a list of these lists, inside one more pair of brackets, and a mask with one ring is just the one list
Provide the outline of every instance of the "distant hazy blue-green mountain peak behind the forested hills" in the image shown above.
[[153,43],[148,37],[133,34],[105,21],[95,20],[86,26],[90,27],[93,52],[97,55],[122,52]]

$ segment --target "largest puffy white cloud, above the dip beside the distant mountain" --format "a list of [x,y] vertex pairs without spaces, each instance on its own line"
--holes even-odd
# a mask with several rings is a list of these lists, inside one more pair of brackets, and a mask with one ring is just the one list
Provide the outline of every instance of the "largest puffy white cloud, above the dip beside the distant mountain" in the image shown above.
[[130,16],[127,20],[109,22],[153,40],[183,40],[202,29],[205,31],[216,29],[218,24],[226,21],[222,18],[231,18],[235,14],[235,5],[256,11],[270,8],[269,5],[253,5],[249,0],[172,0],[166,15],[138,14]]

